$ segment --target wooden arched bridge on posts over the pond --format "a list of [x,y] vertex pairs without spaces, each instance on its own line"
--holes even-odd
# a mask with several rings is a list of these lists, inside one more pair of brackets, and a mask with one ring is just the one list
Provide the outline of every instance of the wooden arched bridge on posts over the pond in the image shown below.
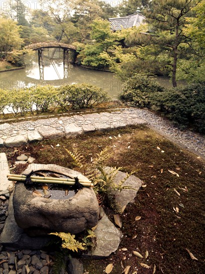
[[59,48],[59,49],[63,49],[63,63],[65,63],[65,61],[68,61],[68,52],[72,51],[72,52],[76,52],[76,47],[70,44],[66,44],[66,43],[59,43],[59,42],[39,42],[39,43],[33,43],[30,45],[27,45],[25,47],[26,49],[32,49],[32,50],[37,50],[38,51],[38,64],[40,65],[40,63],[43,62],[43,50],[45,48],[54,48],[53,54],[51,55],[51,58],[53,58],[53,55],[55,53],[55,49]]

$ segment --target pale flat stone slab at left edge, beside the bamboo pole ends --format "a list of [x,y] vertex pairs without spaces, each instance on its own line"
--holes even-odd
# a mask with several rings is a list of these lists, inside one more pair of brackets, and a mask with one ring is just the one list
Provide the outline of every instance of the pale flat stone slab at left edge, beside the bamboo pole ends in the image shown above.
[[13,189],[13,183],[8,181],[6,175],[10,173],[5,153],[0,153],[0,190]]

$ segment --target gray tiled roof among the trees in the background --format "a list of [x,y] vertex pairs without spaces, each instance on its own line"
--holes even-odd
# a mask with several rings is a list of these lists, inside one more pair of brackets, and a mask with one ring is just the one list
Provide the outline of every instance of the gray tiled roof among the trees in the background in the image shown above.
[[141,12],[136,12],[134,14],[125,17],[109,18],[112,30],[121,30],[123,28],[129,28],[133,26],[140,26],[146,19]]

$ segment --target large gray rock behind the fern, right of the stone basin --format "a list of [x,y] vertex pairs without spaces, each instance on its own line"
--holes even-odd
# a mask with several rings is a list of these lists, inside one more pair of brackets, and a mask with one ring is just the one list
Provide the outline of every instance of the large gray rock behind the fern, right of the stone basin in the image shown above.
[[[105,170],[107,173],[109,173],[112,170],[112,167],[105,167]],[[125,172],[118,171],[113,182],[116,185],[120,185],[122,180],[127,176]],[[137,195],[138,190],[142,186],[142,181],[137,178],[136,176],[131,175],[122,186],[128,186],[130,189],[122,189],[117,191],[112,191],[115,199],[115,204],[119,212],[123,212],[126,208],[126,206],[129,203],[133,203],[134,199]]]

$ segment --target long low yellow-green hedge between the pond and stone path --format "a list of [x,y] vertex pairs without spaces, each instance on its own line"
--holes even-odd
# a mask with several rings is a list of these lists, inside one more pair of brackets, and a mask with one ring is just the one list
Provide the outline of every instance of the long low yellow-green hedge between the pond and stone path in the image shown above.
[[[21,90],[0,90],[0,112],[11,108],[15,115],[26,112],[49,112],[56,108],[62,111],[92,108],[110,100],[107,92],[89,84],[34,86]],[[4,113],[3,113],[4,114]]]

